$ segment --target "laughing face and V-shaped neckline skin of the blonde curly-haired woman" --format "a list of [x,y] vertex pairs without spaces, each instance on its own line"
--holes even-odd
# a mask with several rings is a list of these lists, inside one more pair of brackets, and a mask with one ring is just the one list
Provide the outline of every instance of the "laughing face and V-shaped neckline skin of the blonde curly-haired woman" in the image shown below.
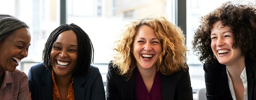
[[160,40],[153,28],[143,25],[135,36],[133,42],[133,55],[141,77],[146,85],[148,93],[156,75],[156,62],[162,52]]

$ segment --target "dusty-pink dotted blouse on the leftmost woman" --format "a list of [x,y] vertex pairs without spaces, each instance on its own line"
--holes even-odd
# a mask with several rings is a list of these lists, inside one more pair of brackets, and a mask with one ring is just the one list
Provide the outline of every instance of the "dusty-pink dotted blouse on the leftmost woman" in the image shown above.
[[28,76],[17,69],[14,72],[5,71],[0,100],[31,100]]

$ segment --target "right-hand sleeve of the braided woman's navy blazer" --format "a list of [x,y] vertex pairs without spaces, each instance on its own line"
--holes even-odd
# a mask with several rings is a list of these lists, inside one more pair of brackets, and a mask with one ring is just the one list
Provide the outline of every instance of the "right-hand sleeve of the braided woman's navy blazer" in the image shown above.
[[93,85],[91,89],[91,100],[106,100],[102,76],[97,67],[95,74],[96,77],[92,83]]

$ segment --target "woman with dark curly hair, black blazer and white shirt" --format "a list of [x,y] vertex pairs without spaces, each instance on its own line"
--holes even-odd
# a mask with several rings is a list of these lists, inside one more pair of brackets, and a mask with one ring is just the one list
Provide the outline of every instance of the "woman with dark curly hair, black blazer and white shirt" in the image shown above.
[[256,6],[226,2],[202,17],[193,50],[208,100],[256,100]]

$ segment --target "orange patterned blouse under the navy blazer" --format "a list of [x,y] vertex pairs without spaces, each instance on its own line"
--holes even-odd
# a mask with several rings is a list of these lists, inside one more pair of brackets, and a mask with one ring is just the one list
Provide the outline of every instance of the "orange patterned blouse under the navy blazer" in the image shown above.
[[[55,82],[55,76],[54,76],[53,69],[52,69],[52,76],[53,76],[53,100],[61,100],[60,92],[59,92],[58,86]],[[73,83],[74,83],[74,81],[73,81],[73,77],[72,77],[72,81],[68,86],[67,100],[75,100]]]

